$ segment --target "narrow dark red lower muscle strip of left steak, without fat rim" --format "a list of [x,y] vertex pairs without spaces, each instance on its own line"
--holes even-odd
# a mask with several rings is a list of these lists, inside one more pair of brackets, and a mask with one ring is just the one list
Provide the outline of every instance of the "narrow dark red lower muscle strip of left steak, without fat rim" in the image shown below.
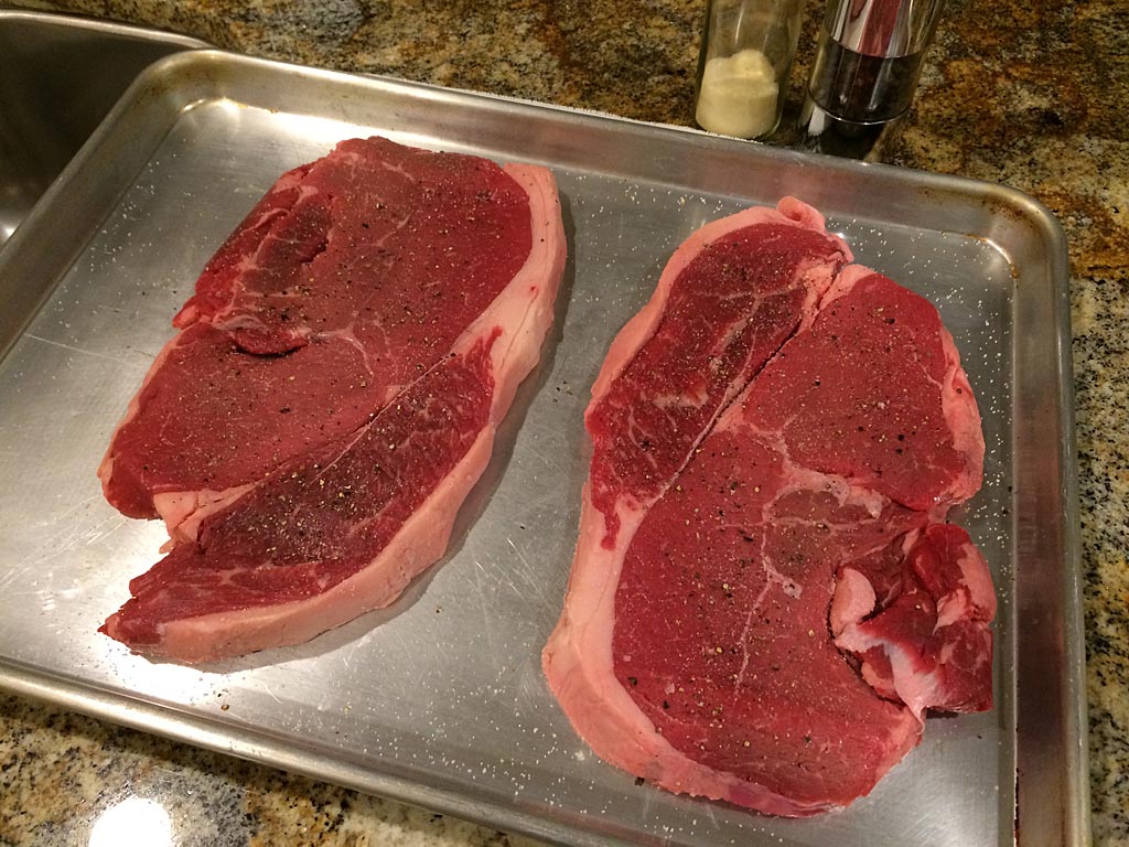
[[106,625],[134,648],[170,620],[316,597],[367,567],[455,470],[490,419],[490,347],[448,357],[350,438],[283,464],[130,583]]

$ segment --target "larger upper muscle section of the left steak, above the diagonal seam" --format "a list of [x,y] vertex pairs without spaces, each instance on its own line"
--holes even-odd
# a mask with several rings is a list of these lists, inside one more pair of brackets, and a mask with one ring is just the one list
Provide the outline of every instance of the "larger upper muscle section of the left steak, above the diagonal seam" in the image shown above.
[[[285,174],[208,262],[99,468],[193,538],[281,463],[367,424],[530,260],[548,173],[353,139]],[[545,217],[549,216],[549,217]],[[534,229],[534,227],[536,229]]]

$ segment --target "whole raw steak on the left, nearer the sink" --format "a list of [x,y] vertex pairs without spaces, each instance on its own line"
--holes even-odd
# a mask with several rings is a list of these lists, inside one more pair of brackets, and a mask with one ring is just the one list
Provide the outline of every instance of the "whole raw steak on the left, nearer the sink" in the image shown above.
[[285,175],[209,262],[103,464],[111,500],[172,534],[103,631],[202,662],[392,602],[443,555],[563,263],[544,168],[369,139]]

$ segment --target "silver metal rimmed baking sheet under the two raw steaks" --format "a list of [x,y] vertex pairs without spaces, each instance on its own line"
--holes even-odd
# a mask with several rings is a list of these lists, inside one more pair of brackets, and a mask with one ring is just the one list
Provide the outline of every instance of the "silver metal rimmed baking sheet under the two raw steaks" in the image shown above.
[[[204,261],[283,171],[340,139],[550,166],[558,322],[447,556],[391,610],[204,669],[95,630],[157,558],[95,469]],[[994,711],[933,718],[872,796],[789,821],[596,759],[540,671],[586,475],[581,411],[616,330],[704,221],[794,194],[928,296],[984,417],[961,516],[1000,596]],[[1062,845],[1086,839],[1061,230],[997,185],[220,52],[146,71],[0,254],[0,681],[112,721],[568,845]]]

